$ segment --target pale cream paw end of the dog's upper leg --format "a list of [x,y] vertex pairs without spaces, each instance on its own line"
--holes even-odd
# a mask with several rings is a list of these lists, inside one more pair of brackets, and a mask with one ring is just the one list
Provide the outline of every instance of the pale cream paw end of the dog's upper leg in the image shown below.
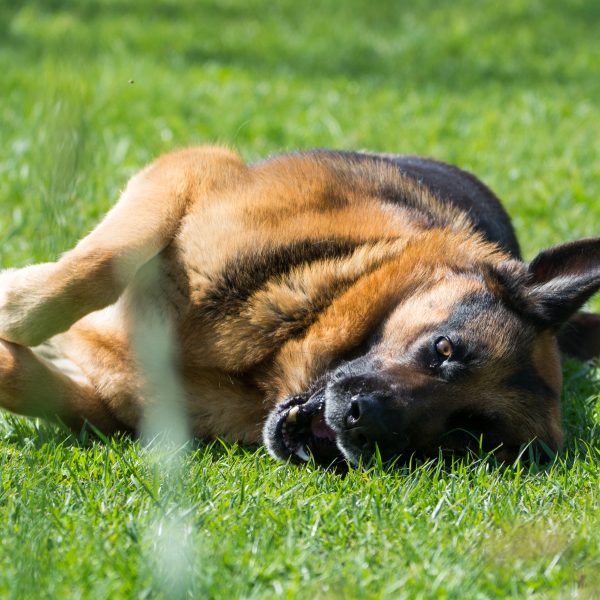
[[0,273],[0,338],[37,346],[56,333],[49,287],[53,263]]

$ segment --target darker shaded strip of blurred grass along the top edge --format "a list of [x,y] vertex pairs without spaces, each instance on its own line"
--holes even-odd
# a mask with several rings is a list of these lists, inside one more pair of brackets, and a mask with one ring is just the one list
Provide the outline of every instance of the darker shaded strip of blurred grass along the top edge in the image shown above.
[[[50,51],[60,58],[70,49],[92,57],[110,53],[114,29],[121,52],[152,57],[175,69],[210,63],[266,79],[347,77],[457,92],[490,83],[512,88],[543,82],[589,85],[594,81],[590,48],[600,24],[600,3],[578,0],[513,2],[486,10],[470,0],[424,0],[411,6],[353,0],[344,10],[331,1],[321,3],[319,11],[292,1],[256,0],[12,5],[0,0],[2,5],[4,43],[36,56]],[[57,15],[68,15],[72,22],[57,26],[64,35],[21,35],[10,22],[23,6],[48,16],[42,32],[54,26]],[[95,33],[100,30],[104,38]]]

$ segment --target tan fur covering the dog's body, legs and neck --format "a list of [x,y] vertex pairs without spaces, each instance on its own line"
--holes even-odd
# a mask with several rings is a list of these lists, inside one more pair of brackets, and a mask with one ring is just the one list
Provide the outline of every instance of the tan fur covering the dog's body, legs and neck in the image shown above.
[[[333,160],[292,156],[248,167],[209,147],[146,167],[58,261],[0,274],[0,404],[74,426],[89,420],[108,432],[137,430],[147,381],[134,338],[144,319],[173,331],[192,430],[205,438],[258,442],[277,402],[306,390],[385,319],[381,354],[393,369],[394,353],[423,326],[483,288],[461,270],[508,257],[465,213],[397,169],[383,162],[334,169]],[[409,205],[380,202],[373,190],[387,183],[442,226]],[[318,250],[328,239],[349,250],[293,266],[251,289],[240,310],[207,317],[214,281],[240,253],[303,241]],[[442,308],[425,312],[428,304]],[[499,357],[510,342],[488,341]],[[42,342],[54,362],[35,348]],[[558,391],[552,344],[540,338],[533,361]],[[57,368],[61,360],[72,369]]]

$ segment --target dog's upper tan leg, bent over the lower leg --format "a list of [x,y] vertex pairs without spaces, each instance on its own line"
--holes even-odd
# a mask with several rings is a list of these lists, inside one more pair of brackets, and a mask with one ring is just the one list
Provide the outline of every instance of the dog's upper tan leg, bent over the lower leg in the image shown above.
[[60,260],[0,273],[0,338],[35,346],[113,304],[138,269],[169,244],[193,204],[246,176],[239,157],[221,148],[159,158]]

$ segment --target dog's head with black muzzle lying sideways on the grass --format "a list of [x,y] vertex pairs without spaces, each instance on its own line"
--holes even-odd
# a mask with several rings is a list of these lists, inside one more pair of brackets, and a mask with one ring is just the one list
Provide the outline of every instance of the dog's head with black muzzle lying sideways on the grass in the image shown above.
[[[290,354],[310,383],[269,415],[271,453],[329,465],[368,460],[376,448],[401,460],[482,449],[505,462],[529,442],[559,450],[557,334],[600,288],[600,238],[529,264],[417,266],[405,278],[411,292],[392,303],[389,281],[367,282],[365,302],[349,296]],[[598,323],[587,333],[597,336]],[[336,336],[346,343],[336,346]],[[597,340],[584,342],[598,351]]]

